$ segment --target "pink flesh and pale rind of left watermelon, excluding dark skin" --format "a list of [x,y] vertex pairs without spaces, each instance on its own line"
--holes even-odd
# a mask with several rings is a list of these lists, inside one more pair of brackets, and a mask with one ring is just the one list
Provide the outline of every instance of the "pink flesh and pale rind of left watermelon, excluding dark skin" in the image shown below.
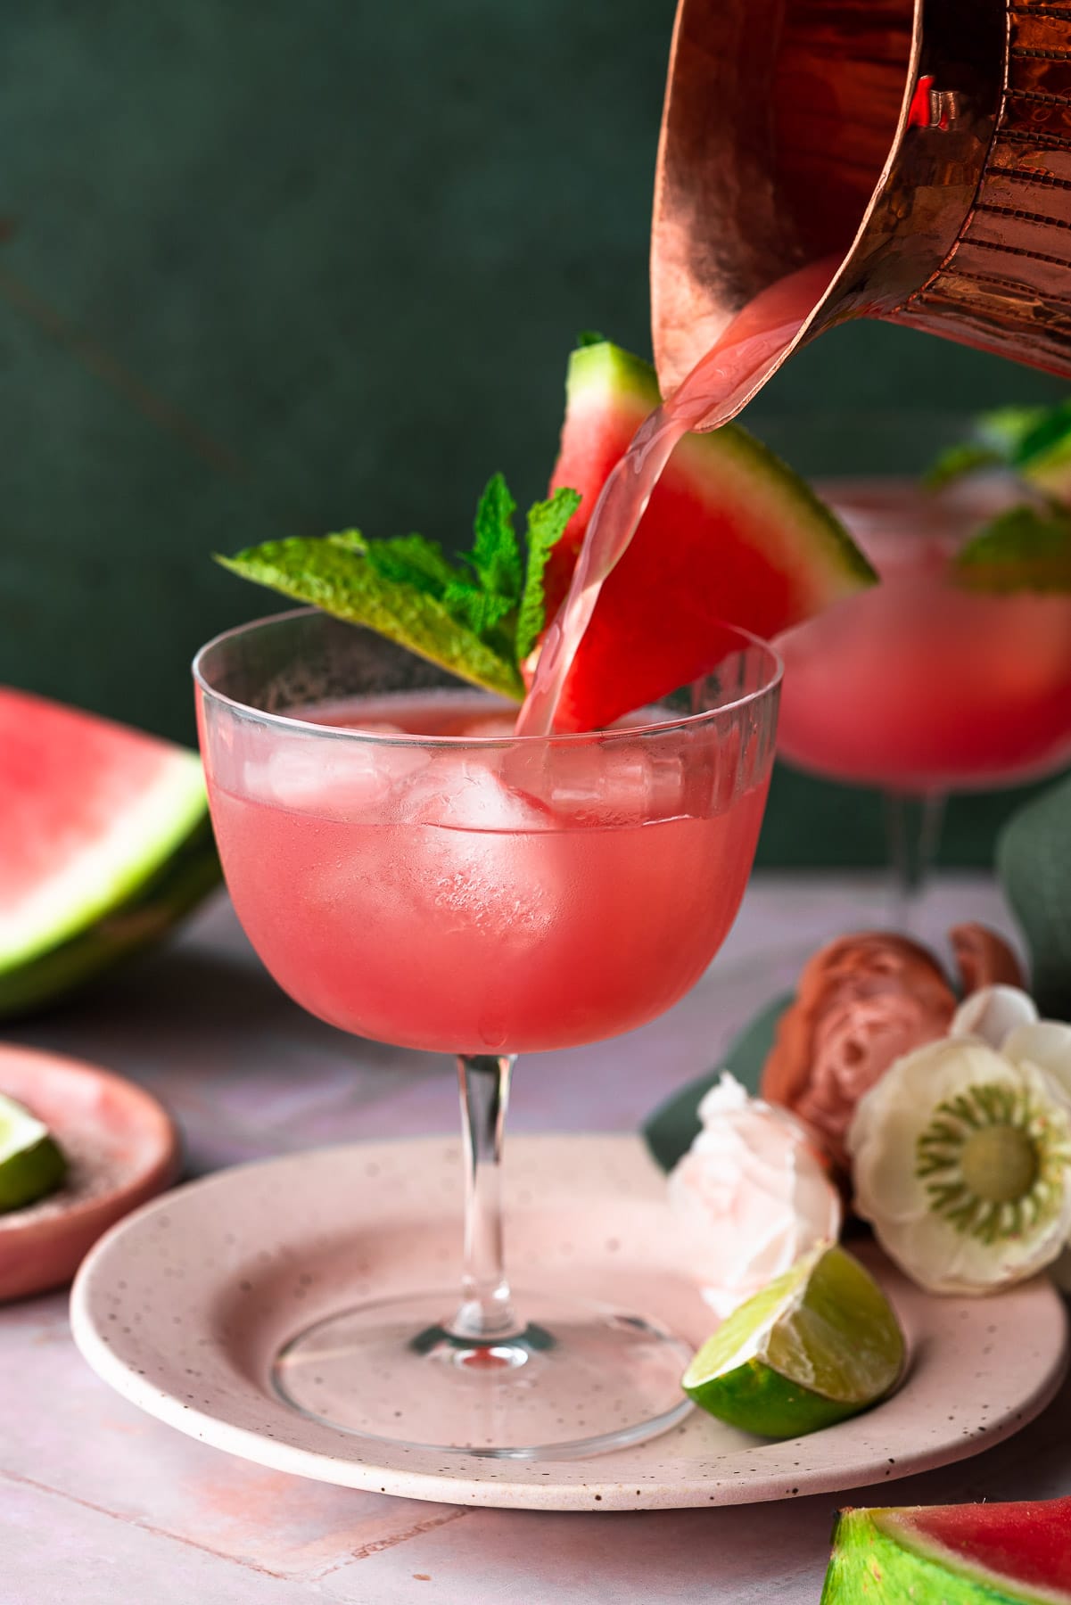
[[194,753],[0,689],[0,979],[114,913],[204,820]]

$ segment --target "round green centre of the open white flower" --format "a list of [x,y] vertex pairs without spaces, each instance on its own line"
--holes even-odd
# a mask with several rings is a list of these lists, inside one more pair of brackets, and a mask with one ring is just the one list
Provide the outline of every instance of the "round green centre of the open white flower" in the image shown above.
[[930,1209],[983,1242],[1045,1225],[1060,1209],[1068,1165],[1065,1112],[1002,1082],[939,1103],[915,1144]]

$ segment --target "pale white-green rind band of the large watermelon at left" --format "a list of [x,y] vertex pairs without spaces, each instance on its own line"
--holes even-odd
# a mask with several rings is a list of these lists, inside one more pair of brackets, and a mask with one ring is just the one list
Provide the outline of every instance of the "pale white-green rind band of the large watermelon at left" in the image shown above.
[[201,759],[181,748],[108,833],[16,907],[0,910],[0,979],[77,936],[125,902],[207,819]]

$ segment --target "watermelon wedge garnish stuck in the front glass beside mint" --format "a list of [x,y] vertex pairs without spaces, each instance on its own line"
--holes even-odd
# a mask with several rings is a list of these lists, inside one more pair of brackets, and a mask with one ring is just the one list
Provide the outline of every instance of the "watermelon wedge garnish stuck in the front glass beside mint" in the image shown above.
[[[546,616],[565,597],[607,473],[658,404],[654,368],[602,342],[573,351],[551,490],[583,496],[551,552]],[[593,730],[710,672],[718,623],[769,639],[877,576],[833,514],[735,424],[687,435],[602,587],[556,727]]]

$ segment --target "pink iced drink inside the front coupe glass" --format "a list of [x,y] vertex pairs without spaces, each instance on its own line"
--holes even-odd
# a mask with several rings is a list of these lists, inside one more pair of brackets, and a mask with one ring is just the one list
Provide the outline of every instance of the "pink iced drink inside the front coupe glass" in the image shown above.
[[504,733],[493,709],[472,692],[353,700],[299,713],[382,733],[334,772],[271,738],[239,772],[214,761],[234,905],[310,1013],[409,1048],[564,1048],[660,1014],[721,947],[766,782],[682,815],[695,777],[676,756],[621,746],[607,785],[605,748],[581,745],[548,786],[523,750],[390,738]]

